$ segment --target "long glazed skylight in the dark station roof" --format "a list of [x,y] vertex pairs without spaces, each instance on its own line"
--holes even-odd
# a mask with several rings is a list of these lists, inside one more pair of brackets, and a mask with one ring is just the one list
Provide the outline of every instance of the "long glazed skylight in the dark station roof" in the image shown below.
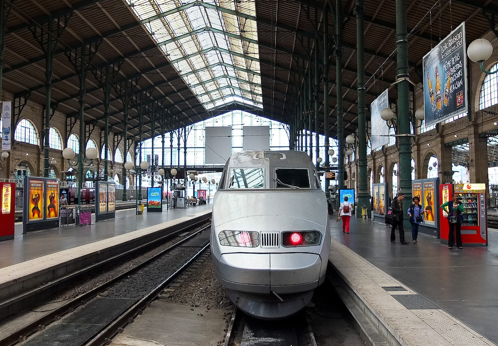
[[124,2],[206,110],[262,108],[254,1]]

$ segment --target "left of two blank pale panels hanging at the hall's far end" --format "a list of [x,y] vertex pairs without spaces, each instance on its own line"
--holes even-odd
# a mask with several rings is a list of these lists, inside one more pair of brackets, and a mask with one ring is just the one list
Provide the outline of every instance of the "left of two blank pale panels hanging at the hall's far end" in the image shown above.
[[206,165],[225,165],[232,155],[232,126],[206,127]]

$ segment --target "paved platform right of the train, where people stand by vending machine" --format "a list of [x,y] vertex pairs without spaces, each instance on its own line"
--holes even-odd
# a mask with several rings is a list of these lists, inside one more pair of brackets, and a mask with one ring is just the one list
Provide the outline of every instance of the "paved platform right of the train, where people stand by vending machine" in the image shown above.
[[489,346],[498,344],[498,230],[489,246],[448,249],[439,239],[418,235],[409,244],[390,242],[390,228],[351,219],[342,232],[330,216],[330,261],[347,283],[348,295],[381,326],[389,345]]

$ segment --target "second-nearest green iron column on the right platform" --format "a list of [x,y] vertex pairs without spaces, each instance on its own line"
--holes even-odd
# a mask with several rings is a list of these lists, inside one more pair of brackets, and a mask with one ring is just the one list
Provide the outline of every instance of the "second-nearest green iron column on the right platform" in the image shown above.
[[[358,157],[360,185],[358,186],[358,206],[356,217],[362,217],[362,207],[370,209],[370,194],[367,186],[367,115],[365,112],[365,45],[364,45],[363,0],[356,0],[356,35],[358,46]],[[367,209],[367,210],[368,210]]]

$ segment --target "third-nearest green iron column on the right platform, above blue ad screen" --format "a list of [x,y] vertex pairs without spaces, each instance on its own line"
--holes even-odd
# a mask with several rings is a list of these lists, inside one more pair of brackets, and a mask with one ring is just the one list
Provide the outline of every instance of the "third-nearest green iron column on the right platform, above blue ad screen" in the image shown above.
[[[342,108],[342,10],[341,0],[336,0],[336,89],[337,89],[337,188],[344,188],[344,129]],[[336,198],[336,210],[340,200]]]

